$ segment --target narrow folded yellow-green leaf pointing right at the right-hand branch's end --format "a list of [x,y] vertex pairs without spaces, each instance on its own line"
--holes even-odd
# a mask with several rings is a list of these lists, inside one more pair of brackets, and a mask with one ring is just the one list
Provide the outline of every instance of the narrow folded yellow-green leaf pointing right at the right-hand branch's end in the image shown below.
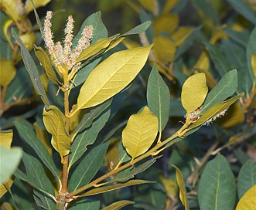
[[203,113],[203,115],[198,120],[196,120],[195,123],[193,123],[189,127],[189,130],[204,124],[205,122],[207,122],[208,120],[212,119],[213,117],[216,117],[217,114],[219,114],[219,113],[223,112],[224,110],[226,110],[228,107],[231,106],[231,104],[235,103],[236,100],[238,100],[242,96],[244,96],[244,93],[240,93],[236,97],[233,97],[230,100],[226,100],[223,103],[215,104],[213,107],[211,107],[205,113]]

